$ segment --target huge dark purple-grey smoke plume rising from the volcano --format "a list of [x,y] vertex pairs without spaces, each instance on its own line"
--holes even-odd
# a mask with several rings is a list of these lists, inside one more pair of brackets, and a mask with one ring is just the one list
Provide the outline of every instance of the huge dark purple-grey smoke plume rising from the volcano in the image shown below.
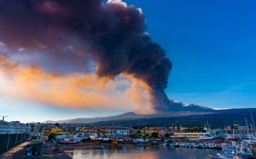
[[144,32],[145,22],[140,9],[120,1],[0,1],[0,42],[6,47],[36,50],[80,68],[92,59],[98,77],[133,74],[149,85],[160,110],[168,108],[164,90],[172,63]]

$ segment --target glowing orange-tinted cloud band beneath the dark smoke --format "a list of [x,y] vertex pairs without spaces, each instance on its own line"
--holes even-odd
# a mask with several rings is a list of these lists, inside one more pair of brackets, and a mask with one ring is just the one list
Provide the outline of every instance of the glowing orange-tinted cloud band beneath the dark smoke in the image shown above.
[[[0,94],[60,107],[141,110],[151,113],[146,84],[130,76],[112,80],[94,74],[59,76],[0,56]],[[116,90],[118,86],[126,89]],[[145,111],[145,108],[147,108]]]

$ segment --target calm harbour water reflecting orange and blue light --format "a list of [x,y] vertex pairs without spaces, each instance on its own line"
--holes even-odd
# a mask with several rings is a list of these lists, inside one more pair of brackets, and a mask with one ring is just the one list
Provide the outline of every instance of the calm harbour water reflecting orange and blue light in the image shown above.
[[214,149],[198,149],[187,147],[170,147],[147,145],[137,147],[122,147],[122,148],[97,148],[97,149],[64,149],[64,151],[73,159],[204,159],[204,154],[216,154],[218,150]]

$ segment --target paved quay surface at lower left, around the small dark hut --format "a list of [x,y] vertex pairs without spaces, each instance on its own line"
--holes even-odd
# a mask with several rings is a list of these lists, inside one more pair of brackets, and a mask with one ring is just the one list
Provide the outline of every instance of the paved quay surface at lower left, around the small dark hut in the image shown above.
[[[46,144],[42,145],[41,155],[38,156],[27,156],[26,155],[26,145],[29,144],[31,141],[24,142],[18,146],[15,146],[9,150],[6,150],[3,153],[0,153],[0,158],[4,159],[72,159],[68,156],[61,148],[59,148],[59,152],[53,152],[52,147],[55,146],[52,141],[49,141]],[[56,146],[55,146],[56,147]],[[57,147],[56,147],[57,148]]]

